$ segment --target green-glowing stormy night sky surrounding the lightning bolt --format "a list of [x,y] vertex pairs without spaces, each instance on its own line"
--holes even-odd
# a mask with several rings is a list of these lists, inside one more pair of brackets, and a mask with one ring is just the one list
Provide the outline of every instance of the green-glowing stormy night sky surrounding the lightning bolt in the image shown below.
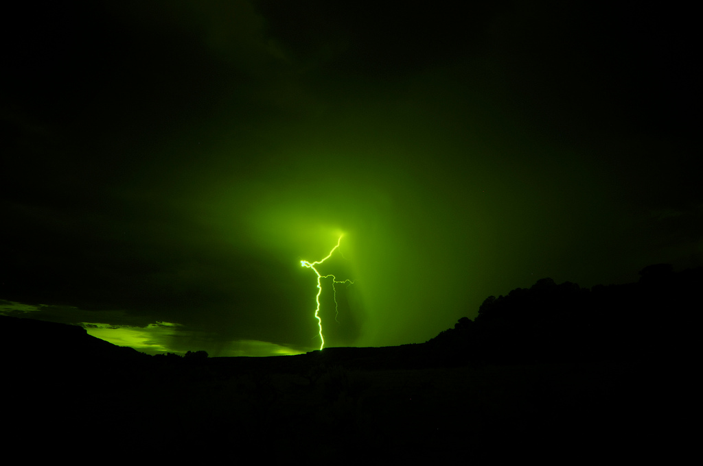
[[300,261],[342,234],[317,266],[354,281],[338,322],[321,281],[328,347],[425,342],[543,277],[703,265],[694,13],[466,3],[3,15],[0,313],[296,354],[320,346]]

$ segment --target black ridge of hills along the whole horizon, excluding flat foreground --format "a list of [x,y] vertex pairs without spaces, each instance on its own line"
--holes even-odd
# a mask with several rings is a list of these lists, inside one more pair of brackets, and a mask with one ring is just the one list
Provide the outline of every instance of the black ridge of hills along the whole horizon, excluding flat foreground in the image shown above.
[[[703,267],[673,272],[667,264],[645,267],[638,283],[591,289],[545,278],[530,288],[516,288],[498,298],[489,296],[474,321],[463,317],[454,328],[426,343],[328,347],[322,352],[266,358],[207,358],[207,353],[198,351],[188,352],[185,358],[170,354],[155,361],[296,372],[319,364],[389,369],[652,357],[678,346],[676,335],[692,319],[691,311],[700,307],[702,289]],[[0,316],[0,347],[9,359],[150,359],[134,349],[94,338],[79,326],[4,316]]]

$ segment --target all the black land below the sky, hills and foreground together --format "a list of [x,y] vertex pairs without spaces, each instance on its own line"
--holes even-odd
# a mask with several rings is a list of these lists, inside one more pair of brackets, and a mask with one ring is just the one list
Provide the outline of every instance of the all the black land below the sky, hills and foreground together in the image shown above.
[[590,289],[541,279],[425,343],[267,358],[150,357],[3,317],[4,438],[160,462],[676,460],[670,368],[702,285],[669,265]]

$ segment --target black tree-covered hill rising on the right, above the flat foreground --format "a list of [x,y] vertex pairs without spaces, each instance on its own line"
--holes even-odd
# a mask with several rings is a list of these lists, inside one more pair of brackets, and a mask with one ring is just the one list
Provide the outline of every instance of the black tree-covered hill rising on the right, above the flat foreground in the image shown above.
[[[654,357],[685,351],[685,336],[701,308],[703,267],[673,272],[645,267],[633,284],[581,288],[546,278],[505,296],[489,296],[474,321],[428,342],[455,364],[494,364]],[[440,359],[441,356],[438,356]]]

